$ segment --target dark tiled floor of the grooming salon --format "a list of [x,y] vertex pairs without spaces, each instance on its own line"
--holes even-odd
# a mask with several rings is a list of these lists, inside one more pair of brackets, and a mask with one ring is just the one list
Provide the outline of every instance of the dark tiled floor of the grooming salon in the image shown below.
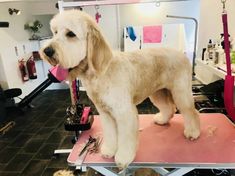
[[[95,107],[85,93],[81,103]],[[24,114],[8,112],[6,121],[16,125],[0,136],[1,176],[49,176],[60,169],[67,169],[67,155],[53,156],[55,149],[71,148],[73,132],[64,130],[66,107],[70,105],[69,90],[44,91],[36,97],[33,109],[24,109]],[[148,108],[146,108],[148,106]],[[153,113],[157,109],[144,101],[138,106],[139,113]]]

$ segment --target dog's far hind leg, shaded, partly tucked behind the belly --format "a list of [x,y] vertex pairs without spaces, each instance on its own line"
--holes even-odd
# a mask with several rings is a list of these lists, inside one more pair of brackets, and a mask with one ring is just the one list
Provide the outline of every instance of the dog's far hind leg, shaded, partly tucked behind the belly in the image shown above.
[[149,98],[160,111],[154,116],[154,121],[159,125],[167,124],[175,113],[175,105],[170,91],[161,89]]

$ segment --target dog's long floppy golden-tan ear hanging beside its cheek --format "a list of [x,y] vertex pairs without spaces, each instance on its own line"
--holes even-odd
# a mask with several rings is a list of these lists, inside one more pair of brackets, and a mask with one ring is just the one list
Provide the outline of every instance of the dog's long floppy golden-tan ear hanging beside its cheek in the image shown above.
[[94,26],[94,24],[90,24],[88,29],[88,67],[94,72],[101,72],[109,63],[112,57],[112,52],[97,26]]

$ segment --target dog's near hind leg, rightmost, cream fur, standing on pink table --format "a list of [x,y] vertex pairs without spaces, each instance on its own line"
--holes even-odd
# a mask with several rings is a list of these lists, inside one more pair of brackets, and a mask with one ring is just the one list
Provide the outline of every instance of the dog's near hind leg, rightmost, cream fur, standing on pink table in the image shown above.
[[175,80],[171,91],[173,100],[184,117],[184,135],[186,138],[193,140],[200,135],[200,119],[194,107],[191,84],[185,80],[187,79],[183,78],[183,76],[177,81]]

